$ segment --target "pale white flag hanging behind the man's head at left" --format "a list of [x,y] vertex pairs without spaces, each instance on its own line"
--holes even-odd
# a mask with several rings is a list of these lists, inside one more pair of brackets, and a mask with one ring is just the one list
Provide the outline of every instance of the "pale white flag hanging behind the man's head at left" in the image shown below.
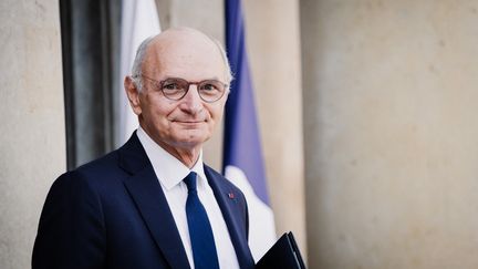
[[121,70],[119,70],[119,118],[116,146],[124,144],[139,123],[129,106],[125,90],[124,77],[131,74],[136,50],[150,35],[160,32],[159,18],[154,0],[123,0],[121,29]]

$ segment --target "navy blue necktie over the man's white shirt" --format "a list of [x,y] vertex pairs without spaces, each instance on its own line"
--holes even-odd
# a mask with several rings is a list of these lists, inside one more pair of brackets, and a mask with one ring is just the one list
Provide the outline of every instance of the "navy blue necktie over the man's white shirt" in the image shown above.
[[196,269],[219,269],[212,229],[206,209],[199,200],[196,189],[196,173],[191,172],[184,179],[188,188],[186,216],[189,227],[189,238]]

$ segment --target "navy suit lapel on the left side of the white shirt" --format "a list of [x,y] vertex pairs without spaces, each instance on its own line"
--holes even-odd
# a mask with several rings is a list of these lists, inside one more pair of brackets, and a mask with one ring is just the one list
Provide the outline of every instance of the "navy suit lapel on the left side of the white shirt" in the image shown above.
[[136,134],[119,149],[124,180],[154,240],[172,268],[190,268],[166,197]]

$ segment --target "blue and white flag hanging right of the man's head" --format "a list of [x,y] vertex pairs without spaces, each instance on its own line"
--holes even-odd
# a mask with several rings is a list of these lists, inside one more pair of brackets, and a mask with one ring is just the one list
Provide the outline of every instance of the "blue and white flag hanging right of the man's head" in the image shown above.
[[276,242],[277,235],[266,184],[240,0],[226,0],[226,51],[235,80],[226,103],[224,173],[245,193],[249,209],[249,247],[257,261]]

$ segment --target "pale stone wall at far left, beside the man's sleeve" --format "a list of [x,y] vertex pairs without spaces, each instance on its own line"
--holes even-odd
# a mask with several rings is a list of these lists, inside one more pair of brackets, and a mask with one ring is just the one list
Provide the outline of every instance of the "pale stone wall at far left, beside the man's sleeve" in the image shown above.
[[40,210],[66,163],[58,1],[1,1],[0,37],[0,268],[30,268]]

